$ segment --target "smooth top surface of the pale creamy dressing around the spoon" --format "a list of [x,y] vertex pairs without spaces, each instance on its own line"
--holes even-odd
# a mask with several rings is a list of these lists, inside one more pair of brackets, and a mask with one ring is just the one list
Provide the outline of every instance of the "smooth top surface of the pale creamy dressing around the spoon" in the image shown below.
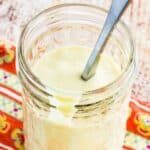
[[81,79],[90,53],[90,48],[79,46],[54,49],[37,61],[33,72],[44,84],[67,91],[94,90],[113,82],[121,71],[108,55],[101,56],[90,80]]

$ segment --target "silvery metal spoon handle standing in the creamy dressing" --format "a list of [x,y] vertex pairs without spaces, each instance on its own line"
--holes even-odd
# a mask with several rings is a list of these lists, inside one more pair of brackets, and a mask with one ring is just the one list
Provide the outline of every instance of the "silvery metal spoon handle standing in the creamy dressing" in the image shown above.
[[122,12],[126,8],[129,0],[113,0],[111,8],[108,12],[108,16],[104,23],[103,29],[98,37],[95,47],[87,61],[81,78],[85,81],[89,80],[96,72],[96,68],[99,62],[100,55],[103,52],[103,46],[107,41],[109,34],[111,33],[114,25],[118,22]]

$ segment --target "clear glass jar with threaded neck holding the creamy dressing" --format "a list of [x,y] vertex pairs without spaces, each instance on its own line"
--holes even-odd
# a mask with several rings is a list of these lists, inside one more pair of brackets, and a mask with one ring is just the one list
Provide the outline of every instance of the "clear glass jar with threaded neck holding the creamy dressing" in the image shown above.
[[[95,6],[58,5],[34,17],[23,30],[18,75],[23,87],[26,150],[121,149],[136,68],[133,41],[124,23],[116,25],[104,47],[121,70],[112,83],[92,91],[62,91],[43,84],[32,72],[47,51],[71,45],[93,48],[106,15]],[[61,120],[54,113],[57,95],[80,99],[71,118]]]

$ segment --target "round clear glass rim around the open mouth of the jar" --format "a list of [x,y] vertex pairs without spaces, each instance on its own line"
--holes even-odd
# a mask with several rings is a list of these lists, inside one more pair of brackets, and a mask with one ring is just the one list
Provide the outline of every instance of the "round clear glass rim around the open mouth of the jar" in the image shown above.
[[[57,93],[63,93],[63,94],[67,94],[67,95],[81,95],[81,92],[76,92],[76,91],[67,91],[67,90],[60,90],[60,89],[55,89],[53,87],[47,87],[46,85],[43,85],[39,80],[34,80],[36,79],[36,76],[31,72],[31,69],[29,68],[29,66],[26,63],[26,59],[24,57],[24,53],[23,53],[23,37],[26,33],[27,28],[30,26],[30,24],[32,24],[32,22],[34,22],[38,17],[40,17],[41,15],[48,13],[50,11],[53,10],[57,10],[60,8],[64,8],[64,7],[70,7],[70,6],[74,6],[74,7],[89,7],[89,8],[93,8],[96,10],[100,10],[103,11],[104,13],[108,13],[107,10],[105,10],[104,8],[101,8],[99,6],[94,6],[94,5],[90,5],[90,4],[78,4],[78,3],[70,3],[70,4],[60,4],[60,5],[56,5],[53,7],[50,7],[48,9],[45,9],[44,11],[40,12],[39,14],[37,14],[35,17],[33,17],[24,27],[20,39],[19,39],[19,50],[18,50],[18,63],[21,63],[22,68],[19,68],[23,71],[24,75],[27,77],[27,79],[29,80],[30,83],[32,83],[33,86],[37,87],[41,92],[46,93],[48,95],[51,95],[52,92],[57,92]],[[131,54],[129,57],[129,61],[126,65],[126,68],[121,72],[121,74],[111,83],[102,86],[100,88],[97,88],[95,90],[91,90],[91,91],[82,91],[82,94],[87,95],[87,94],[100,94],[100,93],[104,93],[106,91],[108,91],[111,88],[117,88],[117,85],[125,78],[125,76],[128,74],[128,72],[131,69],[132,64],[135,61],[135,57],[136,57],[136,52],[135,52],[135,48],[134,48],[134,43],[133,43],[133,39],[132,39],[132,35],[127,27],[127,25],[123,22],[123,21],[119,21],[119,24],[121,24],[121,26],[124,28],[125,32],[128,35],[129,38],[129,44],[130,44],[130,49],[131,49]],[[134,69],[135,69],[135,63],[134,63]]]

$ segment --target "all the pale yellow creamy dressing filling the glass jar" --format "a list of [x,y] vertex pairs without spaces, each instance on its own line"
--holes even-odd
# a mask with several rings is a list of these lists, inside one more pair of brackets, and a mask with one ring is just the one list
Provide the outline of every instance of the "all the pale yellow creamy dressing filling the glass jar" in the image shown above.
[[[88,81],[80,78],[90,53],[90,48],[79,46],[54,49],[36,62],[33,73],[47,86],[65,91],[93,90],[116,80],[121,71],[108,55],[101,56],[95,76]],[[120,98],[124,99],[124,96]],[[29,139],[25,143],[27,150],[121,149],[126,121],[122,115],[127,111],[127,103],[123,109],[120,107],[122,104],[113,106],[115,111],[103,115],[101,123],[94,126],[88,126],[88,122],[79,126],[72,121],[78,98],[54,95],[50,103],[56,104],[57,108],[51,109],[47,118],[24,103],[24,114],[30,116],[24,120],[25,135]],[[68,122],[67,116],[70,114]],[[105,118],[110,121],[107,122]],[[116,128],[118,130],[114,133]],[[116,141],[114,137],[120,140]]]

